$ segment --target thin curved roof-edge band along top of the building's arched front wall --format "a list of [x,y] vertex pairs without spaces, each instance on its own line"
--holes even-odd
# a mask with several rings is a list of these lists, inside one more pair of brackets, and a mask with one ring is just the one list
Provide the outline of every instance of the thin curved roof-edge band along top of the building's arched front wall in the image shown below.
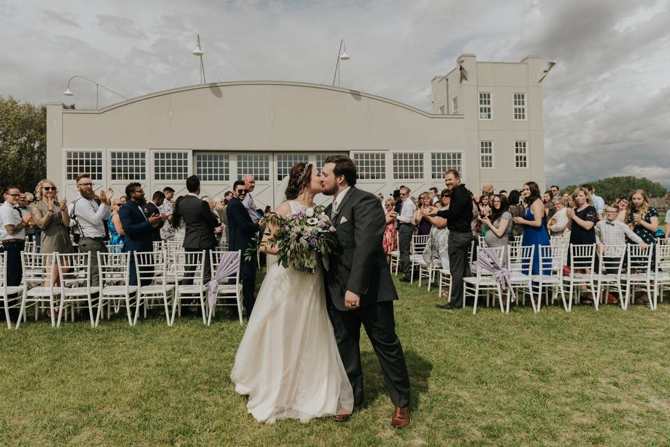
[[304,87],[307,89],[323,89],[323,90],[331,90],[336,94],[348,94],[352,96],[357,96],[357,97],[364,97],[364,98],[370,98],[375,101],[381,101],[383,103],[388,103],[391,105],[396,105],[397,107],[404,108],[406,110],[410,110],[412,112],[415,112],[419,115],[423,115],[425,117],[440,117],[440,118],[461,118],[460,115],[435,115],[429,112],[426,112],[424,110],[412,107],[412,105],[408,105],[405,103],[401,103],[399,101],[394,101],[389,98],[384,98],[383,96],[377,96],[369,93],[364,93],[362,91],[358,90],[352,90],[352,89],[343,89],[341,87],[332,87],[330,85],[321,85],[321,84],[311,84],[309,82],[288,82],[288,81],[231,81],[231,82],[209,82],[207,84],[200,84],[200,85],[190,85],[187,87],[177,87],[175,89],[169,89],[169,90],[163,90],[163,91],[156,91],[154,93],[146,94],[144,96],[137,96],[137,98],[131,98],[128,99],[127,101],[122,101],[120,103],[114,103],[112,105],[108,105],[107,107],[100,109],[100,110],[77,110],[77,109],[64,109],[64,113],[105,113],[110,110],[114,110],[117,108],[124,107],[124,105],[128,104],[133,104],[137,103],[139,101],[146,101],[148,99],[152,98],[158,98],[159,96],[165,96],[169,94],[174,94],[174,93],[180,93],[184,91],[193,91],[193,90],[199,90],[199,89],[213,89],[216,87],[232,87],[232,86],[241,86],[241,85],[280,85],[280,86],[289,86],[289,87]]

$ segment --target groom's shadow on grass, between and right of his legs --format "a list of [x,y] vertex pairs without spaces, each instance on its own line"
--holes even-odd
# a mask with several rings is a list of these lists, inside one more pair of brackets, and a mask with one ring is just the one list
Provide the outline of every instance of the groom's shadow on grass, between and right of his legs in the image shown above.
[[[433,371],[433,364],[419,356],[413,349],[405,349],[405,362],[410,374],[410,409],[419,404],[421,395],[428,391],[428,379]],[[361,353],[363,369],[363,406],[377,399],[380,394],[388,395],[386,381],[379,360],[374,351]]]

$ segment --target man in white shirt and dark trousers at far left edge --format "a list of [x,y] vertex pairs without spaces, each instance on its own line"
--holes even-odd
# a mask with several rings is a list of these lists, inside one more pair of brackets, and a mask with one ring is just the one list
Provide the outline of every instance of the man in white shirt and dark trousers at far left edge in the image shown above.
[[[7,286],[19,286],[23,277],[21,251],[25,247],[26,228],[30,227],[31,214],[19,210],[20,191],[7,186],[3,191],[4,202],[0,205],[0,253],[7,254]],[[7,297],[8,305],[15,304],[15,297]],[[0,307],[4,309],[4,307]],[[11,309],[10,318],[17,318],[17,309]]]

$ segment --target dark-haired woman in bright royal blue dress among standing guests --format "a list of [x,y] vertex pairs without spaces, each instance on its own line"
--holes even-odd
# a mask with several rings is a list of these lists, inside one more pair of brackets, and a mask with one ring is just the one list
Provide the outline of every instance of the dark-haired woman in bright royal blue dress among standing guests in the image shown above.
[[[546,232],[546,215],[544,214],[544,203],[539,192],[539,186],[535,182],[523,184],[521,198],[526,203],[526,214],[523,217],[514,217],[515,223],[523,225],[523,239],[521,245],[524,247],[534,245],[532,274],[539,274],[539,255],[543,245],[549,245],[549,233]],[[545,269],[543,274],[549,274]]]

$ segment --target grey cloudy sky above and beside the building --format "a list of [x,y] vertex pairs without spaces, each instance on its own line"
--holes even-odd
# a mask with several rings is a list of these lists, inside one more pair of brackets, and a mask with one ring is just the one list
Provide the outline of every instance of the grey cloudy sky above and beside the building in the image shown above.
[[[95,107],[207,80],[329,84],[430,110],[430,81],[461,53],[556,61],[544,81],[546,176],[639,175],[670,187],[670,0],[0,0],[0,95]],[[101,104],[117,102],[101,93]]]

